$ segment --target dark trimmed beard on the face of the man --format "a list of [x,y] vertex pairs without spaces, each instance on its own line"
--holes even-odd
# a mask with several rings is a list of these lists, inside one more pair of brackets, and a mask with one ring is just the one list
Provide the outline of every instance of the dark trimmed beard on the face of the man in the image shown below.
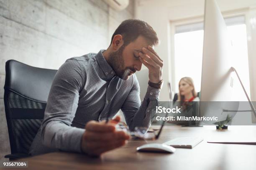
[[136,72],[133,67],[125,67],[124,66],[124,59],[123,59],[123,50],[125,45],[122,45],[116,52],[112,52],[109,56],[109,64],[115,71],[115,73],[123,80],[128,79],[128,75],[131,73]]

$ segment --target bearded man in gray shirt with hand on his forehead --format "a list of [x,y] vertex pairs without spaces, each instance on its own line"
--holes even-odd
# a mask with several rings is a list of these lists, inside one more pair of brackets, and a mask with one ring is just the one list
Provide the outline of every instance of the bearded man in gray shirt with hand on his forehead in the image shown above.
[[[149,127],[162,82],[163,61],[152,48],[156,44],[158,37],[150,25],[125,20],[107,50],[67,60],[54,77],[30,154],[64,150],[100,155],[125,145],[129,135],[115,129],[120,117],[105,122],[120,109],[130,130]],[[143,102],[134,75],[142,64],[149,70]]]

